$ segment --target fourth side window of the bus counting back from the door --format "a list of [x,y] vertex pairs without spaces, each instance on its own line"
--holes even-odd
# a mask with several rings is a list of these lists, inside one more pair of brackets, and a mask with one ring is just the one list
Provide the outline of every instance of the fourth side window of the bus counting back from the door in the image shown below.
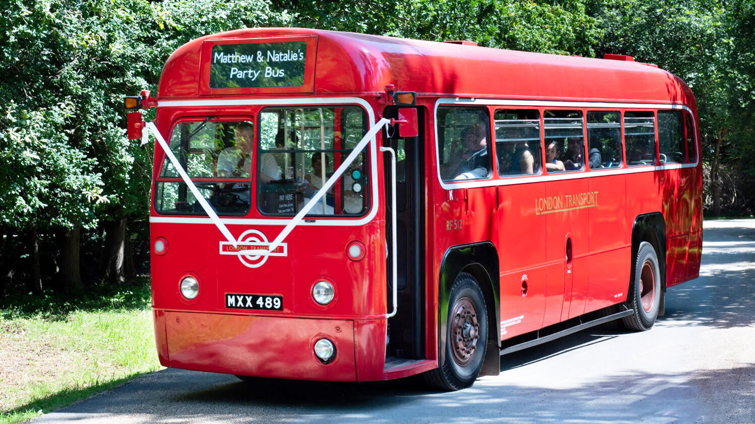
[[587,112],[590,169],[621,167],[621,112]]

